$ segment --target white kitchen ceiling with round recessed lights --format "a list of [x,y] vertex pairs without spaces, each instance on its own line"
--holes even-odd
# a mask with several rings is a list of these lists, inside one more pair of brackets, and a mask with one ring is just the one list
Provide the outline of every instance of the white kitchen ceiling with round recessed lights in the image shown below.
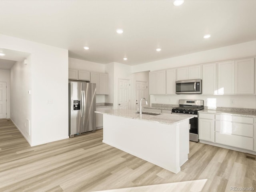
[[1,0],[0,33],[68,49],[72,58],[129,65],[256,40],[256,0],[172,2]]

